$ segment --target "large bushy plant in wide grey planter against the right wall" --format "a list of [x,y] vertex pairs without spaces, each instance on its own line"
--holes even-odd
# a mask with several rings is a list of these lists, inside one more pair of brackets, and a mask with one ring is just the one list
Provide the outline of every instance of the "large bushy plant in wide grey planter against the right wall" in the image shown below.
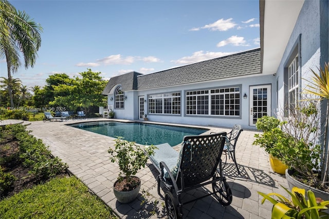
[[285,171],[289,188],[297,186],[312,189],[317,197],[329,196],[328,182],[322,186],[319,168],[321,145],[319,144],[318,102],[304,98],[289,111],[278,127],[256,135],[254,144],[266,146],[265,151],[276,156],[288,169]]

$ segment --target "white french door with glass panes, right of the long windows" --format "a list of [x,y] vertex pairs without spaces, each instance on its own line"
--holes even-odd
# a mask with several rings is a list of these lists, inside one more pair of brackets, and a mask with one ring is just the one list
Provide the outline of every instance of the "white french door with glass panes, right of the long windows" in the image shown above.
[[249,106],[250,126],[255,126],[262,116],[271,116],[271,85],[250,86]]

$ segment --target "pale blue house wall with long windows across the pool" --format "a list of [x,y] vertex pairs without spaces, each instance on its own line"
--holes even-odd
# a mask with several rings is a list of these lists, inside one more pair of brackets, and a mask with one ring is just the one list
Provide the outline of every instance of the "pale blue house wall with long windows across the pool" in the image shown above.
[[[270,84],[272,90],[276,90],[275,77],[273,75],[267,76],[252,76],[245,78],[235,78],[231,80],[221,80],[221,81],[210,81],[203,83],[195,83],[195,84],[186,84],[181,86],[172,86],[172,87],[159,87],[156,89],[148,89],[148,90],[138,90],[134,91],[134,102],[131,102],[133,96],[131,92],[126,92],[125,94],[129,94],[127,96],[127,101],[125,102],[124,113],[119,112],[118,118],[126,118],[126,119],[138,119],[138,96],[144,96],[145,100],[147,100],[148,95],[152,94],[161,94],[161,93],[172,93],[172,92],[181,92],[181,114],[180,115],[155,115],[148,114],[148,118],[150,121],[158,121],[158,122],[174,122],[174,123],[184,123],[184,124],[195,124],[195,125],[215,125],[215,126],[223,126],[223,127],[231,127],[234,124],[240,124],[244,128],[255,129],[254,126],[249,126],[249,86],[253,85],[264,85]],[[217,116],[186,116],[185,115],[185,92],[187,90],[193,89],[207,89],[214,87],[223,87],[223,86],[232,86],[232,85],[241,85],[241,118],[233,118],[233,117],[217,117]],[[244,94],[248,95],[247,99],[243,99]],[[276,108],[276,94],[271,92],[271,106],[272,109]],[[129,101],[128,101],[129,100]],[[144,103],[145,113],[147,113],[148,102]],[[128,106],[129,105],[129,106]],[[120,111],[120,110],[119,110]],[[272,115],[274,112],[272,111]],[[120,117],[119,117],[120,116]]]

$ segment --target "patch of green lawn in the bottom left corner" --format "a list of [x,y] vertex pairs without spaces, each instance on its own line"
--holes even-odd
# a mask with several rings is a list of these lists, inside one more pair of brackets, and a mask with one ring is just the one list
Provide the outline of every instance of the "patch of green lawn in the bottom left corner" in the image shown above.
[[1,218],[117,218],[76,177],[54,178],[0,202]]

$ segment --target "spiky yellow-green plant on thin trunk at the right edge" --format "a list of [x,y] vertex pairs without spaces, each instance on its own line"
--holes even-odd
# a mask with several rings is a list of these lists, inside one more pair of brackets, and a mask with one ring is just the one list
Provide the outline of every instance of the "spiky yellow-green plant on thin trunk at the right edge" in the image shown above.
[[328,177],[329,171],[329,145],[328,145],[328,123],[329,123],[329,72],[328,64],[324,63],[324,69],[321,67],[318,69],[319,74],[314,70],[310,69],[313,73],[312,81],[308,81],[307,85],[310,89],[307,89],[306,92],[319,96],[319,100],[326,100],[326,115],[325,115],[325,124],[324,124],[324,140],[323,140],[323,151],[322,151],[322,187],[325,186],[326,178]]

